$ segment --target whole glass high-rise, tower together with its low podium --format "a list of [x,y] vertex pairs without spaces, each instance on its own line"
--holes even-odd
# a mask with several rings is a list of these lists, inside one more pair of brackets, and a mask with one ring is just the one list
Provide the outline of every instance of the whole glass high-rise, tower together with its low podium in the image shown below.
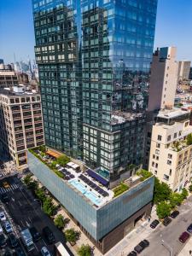
[[[29,168],[106,253],[151,210],[154,177],[131,176],[143,161],[157,1],[32,3],[48,152],[92,170],[61,168],[58,177],[39,148],[28,152]],[[128,189],[113,189],[119,180]]]

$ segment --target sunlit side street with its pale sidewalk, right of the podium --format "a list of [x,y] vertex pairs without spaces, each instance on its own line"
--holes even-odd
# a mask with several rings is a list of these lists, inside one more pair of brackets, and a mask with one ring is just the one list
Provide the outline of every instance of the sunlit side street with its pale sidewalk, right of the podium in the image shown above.
[[[189,224],[192,223],[192,195],[188,200],[183,203],[181,207],[178,207],[180,214],[177,218],[172,219],[172,223],[168,226],[159,224],[155,230],[149,227],[149,224],[154,220],[152,218],[150,222],[145,221],[143,224],[137,226],[130,234],[125,236],[122,241],[113,247],[107,256],[122,256],[130,253],[137,244],[143,239],[147,239],[150,242],[148,248],[145,248],[139,255],[142,256],[175,256],[178,255],[186,243],[178,241],[178,237],[186,231]],[[192,249],[192,248],[190,248]],[[171,254],[172,252],[172,254]],[[189,255],[189,252],[185,254]]]

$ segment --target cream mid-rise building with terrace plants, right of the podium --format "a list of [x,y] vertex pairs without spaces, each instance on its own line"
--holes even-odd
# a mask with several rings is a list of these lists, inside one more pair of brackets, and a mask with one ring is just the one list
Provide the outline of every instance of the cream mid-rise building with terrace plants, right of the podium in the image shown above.
[[173,191],[180,191],[192,177],[192,145],[186,142],[192,133],[189,114],[181,109],[162,110],[153,125],[148,171]]

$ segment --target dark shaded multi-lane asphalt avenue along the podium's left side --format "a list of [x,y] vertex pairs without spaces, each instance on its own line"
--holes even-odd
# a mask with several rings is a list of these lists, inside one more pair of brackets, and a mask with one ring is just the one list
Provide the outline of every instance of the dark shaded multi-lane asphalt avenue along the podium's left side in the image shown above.
[[[6,177],[0,181],[0,187],[5,180],[9,182],[10,188],[12,189],[7,191],[10,201],[9,203],[4,204],[4,207],[15,226],[15,233],[20,236],[20,230],[35,226],[38,232],[42,234],[42,229],[45,226],[49,226],[50,230],[52,230],[55,235],[55,242],[61,241],[65,244],[65,238],[61,231],[55,227],[53,220],[44,214],[38,201],[34,201],[31,191],[26,189],[26,187],[20,182],[20,179],[16,176],[9,178]],[[42,240],[35,243],[35,250],[33,250],[32,253],[27,253],[27,255],[40,255],[40,249],[44,246],[48,247],[50,253],[54,255],[54,245],[48,245],[44,237]]]

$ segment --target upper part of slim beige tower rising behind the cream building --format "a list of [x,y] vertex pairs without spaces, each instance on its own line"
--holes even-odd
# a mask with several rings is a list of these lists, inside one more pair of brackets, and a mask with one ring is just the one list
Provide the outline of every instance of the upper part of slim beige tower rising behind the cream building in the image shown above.
[[176,48],[164,47],[154,52],[148,92],[148,112],[172,108],[177,89]]

